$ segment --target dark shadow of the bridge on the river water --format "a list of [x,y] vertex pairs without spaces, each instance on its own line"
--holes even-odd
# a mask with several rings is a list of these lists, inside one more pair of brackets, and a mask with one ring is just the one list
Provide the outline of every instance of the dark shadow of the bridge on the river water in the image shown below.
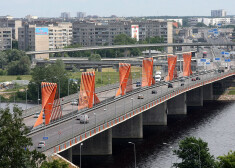
[[[166,151],[168,152],[167,162],[171,162],[169,159],[171,150],[166,149],[166,145],[163,145],[163,142],[169,144],[169,146],[178,143],[182,138],[192,135],[192,132],[202,123],[212,120],[223,108],[232,103],[234,102],[204,102],[204,106],[200,108],[188,107],[187,115],[168,116],[167,126],[144,126],[143,139],[113,139],[112,155],[82,156],[82,168],[134,167],[133,145],[128,143],[130,141],[136,144],[138,168],[155,167],[153,164],[148,163],[166,159]],[[164,150],[165,153],[163,152]],[[79,165],[79,162],[79,156],[73,156],[73,163]]]

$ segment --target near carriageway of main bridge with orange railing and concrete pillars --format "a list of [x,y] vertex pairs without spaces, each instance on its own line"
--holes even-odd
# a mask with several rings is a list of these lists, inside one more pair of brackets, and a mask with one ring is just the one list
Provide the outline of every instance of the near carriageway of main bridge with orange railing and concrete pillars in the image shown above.
[[[136,88],[134,91],[83,111],[70,111],[69,115],[46,127],[33,129],[28,136],[33,140],[33,148],[47,136],[46,155],[68,152],[79,155],[79,146],[84,142],[83,154],[112,154],[112,138],[143,138],[143,125],[167,125],[167,115],[187,114],[187,106],[203,106],[203,100],[213,100],[213,83],[234,77],[235,71],[218,73],[216,70],[195,73],[186,77],[185,85],[180,79],[168,83],[159,82],[151,87]],[[192,81],[192,78],[200,80]],[[221,83],[223,85],[223,83]],[[152,94],[156,90],[157,94]],[[138,99],[142,94],[143,99]],[[88,114],[89,123],[81,124],[77,115]]]

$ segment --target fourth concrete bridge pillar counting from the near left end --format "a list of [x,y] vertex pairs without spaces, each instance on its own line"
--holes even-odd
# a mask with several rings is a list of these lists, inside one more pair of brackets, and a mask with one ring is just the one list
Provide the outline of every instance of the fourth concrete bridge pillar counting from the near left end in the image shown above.
[[167,101],[169,115],[187,114],[186,93]]

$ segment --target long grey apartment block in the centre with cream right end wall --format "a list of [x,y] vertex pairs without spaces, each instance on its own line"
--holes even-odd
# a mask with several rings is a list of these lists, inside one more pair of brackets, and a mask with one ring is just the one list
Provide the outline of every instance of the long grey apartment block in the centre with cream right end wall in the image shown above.
[[138,25],[139,41],[148,37],[161,36],[165,42],[172,42],[172,22],[148,20],[143,22],[74,22],[73,43],[82,46],[113,45],[114,37],[119,34],[131,36],[132,25]]

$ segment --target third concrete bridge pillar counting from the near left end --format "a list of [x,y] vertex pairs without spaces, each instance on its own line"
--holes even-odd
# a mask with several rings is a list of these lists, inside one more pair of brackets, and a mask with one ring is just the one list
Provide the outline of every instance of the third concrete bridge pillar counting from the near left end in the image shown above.
[[167,125],[167,103],[164,102],[145,111],[143,125]]

